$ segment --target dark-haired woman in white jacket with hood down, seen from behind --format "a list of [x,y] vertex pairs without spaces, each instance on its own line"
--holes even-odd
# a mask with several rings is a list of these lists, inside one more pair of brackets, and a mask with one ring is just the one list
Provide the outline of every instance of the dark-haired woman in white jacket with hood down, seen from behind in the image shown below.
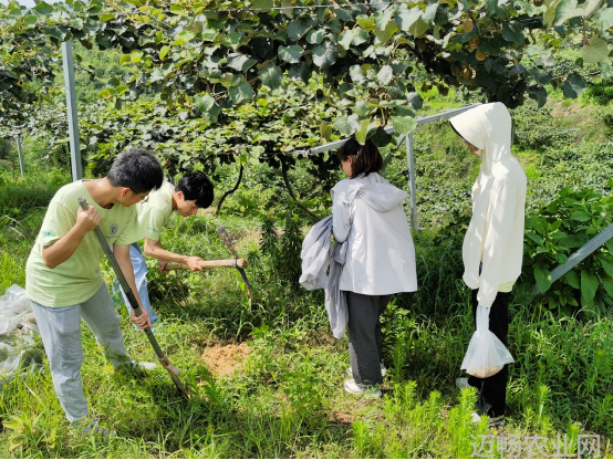
[[417,291],[415,247],[403,209],[408,195],[381,177],[376,146],[350,139],[339,150],[349,176],[331,190],[333,234],[345,243],[340,290],[346,296],[352,377],[345,391],[381,397],[383,383],[380,316],[391,295]]

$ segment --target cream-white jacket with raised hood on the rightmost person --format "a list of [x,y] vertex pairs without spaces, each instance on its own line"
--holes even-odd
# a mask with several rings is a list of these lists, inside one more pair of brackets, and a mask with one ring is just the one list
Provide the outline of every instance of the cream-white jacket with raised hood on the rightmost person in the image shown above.
[[489,307],[498,288],[521,273],[526,175],[511,155],[512,121],[503,104],[478,106],[449,123],[481,150],[481,169],[472,187],[472,219],[463,248],[464,280],[479,289],[479,303]]

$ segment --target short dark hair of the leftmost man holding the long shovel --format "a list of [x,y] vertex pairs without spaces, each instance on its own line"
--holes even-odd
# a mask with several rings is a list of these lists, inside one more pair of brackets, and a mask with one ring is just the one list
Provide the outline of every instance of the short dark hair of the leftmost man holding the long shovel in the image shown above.
[[142,148],[132,148],[115,158],[106,175],[113,187],[126,187],[145,194],[162,187],[164,172],[157,158]]

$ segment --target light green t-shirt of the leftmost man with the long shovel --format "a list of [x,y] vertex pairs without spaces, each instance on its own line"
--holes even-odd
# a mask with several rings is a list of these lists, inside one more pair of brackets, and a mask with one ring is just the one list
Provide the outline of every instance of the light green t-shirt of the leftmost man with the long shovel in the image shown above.
[[132,244],[138,240],[136,208],[120,203],[111,209],[96,205],[83,181],[62,187],[51,200],[46,215],[25,265],[25,293],[38,304],[50,307],[76,305],[91,299],[104,282],[100,261],[104,257],[93,231],[89,232],[69,260],[54,269],[42,260],[42,250],[64,237],[76,222],[80,208],[76,199],[84,197],[100,215],[100,228],[106,242]]

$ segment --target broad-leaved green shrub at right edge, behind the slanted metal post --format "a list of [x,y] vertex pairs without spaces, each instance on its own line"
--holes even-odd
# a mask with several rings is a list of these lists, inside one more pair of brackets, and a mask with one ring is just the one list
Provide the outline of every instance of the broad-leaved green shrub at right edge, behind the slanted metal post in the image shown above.
[[541,304],[559,315],[588,318],[613,305],[613,240],[557,281],[551,271],[611,223],[613,197],[592,189],[560,192],[526,219],[524,271],[542,292]]

